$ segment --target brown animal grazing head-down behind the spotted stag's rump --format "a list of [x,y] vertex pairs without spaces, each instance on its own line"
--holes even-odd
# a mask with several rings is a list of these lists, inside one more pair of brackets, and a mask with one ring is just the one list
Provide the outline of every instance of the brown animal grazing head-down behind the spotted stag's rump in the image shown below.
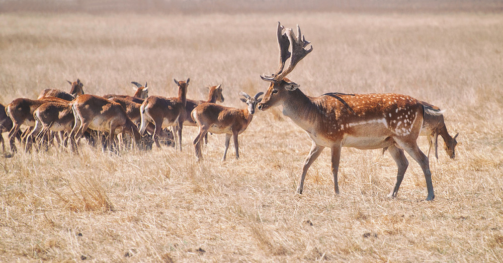
[[454,159],[456,157],[455,148],[458,142],[456,141],[456,137],[458,137],[459,133],[457,133],[454,137],[451,137],[447,131],[447,127],[444,122],[444,114],[432,114],[431,112],[441,112],[439,107],[434,106],[428,102],[421,101],[421,103],[427,109],[431,109],[429,111],[425,111],[423,128],[421,129],[421,134],[424,136],[428,136],[428,157],[430,157],[430,151],[432,149],[432,139],[435,140],[435,157],[438,157],[438,136],[442,136],[444,139],[444,149],[449,156],[449,158]]

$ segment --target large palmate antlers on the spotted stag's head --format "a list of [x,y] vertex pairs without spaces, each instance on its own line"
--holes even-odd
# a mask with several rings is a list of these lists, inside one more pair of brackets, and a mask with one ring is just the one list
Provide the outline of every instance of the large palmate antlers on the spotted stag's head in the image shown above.
[[[285,29],[285,33],[282,34],[283,26],[278,22],[278,47],[279,47],[279,66],[276,73],[271,76],[262,75],[261,78],[265,81],[276,82],[282,80],[288,73],[292,72],[297,63],[302,60],[307,54],[309,54],[313,47],[311,45],[310,49],[305,49],[307,45],[311,42],[306,41],[304,35],[300,33],[300,27],[297,25],[297,36],[293,33],[291,28]],[[286,41],[288,39],[288,42]],[[292,46],[292,52],[288,51],[289,46]],[[286,60],[290,58],[290,63],[285,71],[283,68],[285,67]]]

